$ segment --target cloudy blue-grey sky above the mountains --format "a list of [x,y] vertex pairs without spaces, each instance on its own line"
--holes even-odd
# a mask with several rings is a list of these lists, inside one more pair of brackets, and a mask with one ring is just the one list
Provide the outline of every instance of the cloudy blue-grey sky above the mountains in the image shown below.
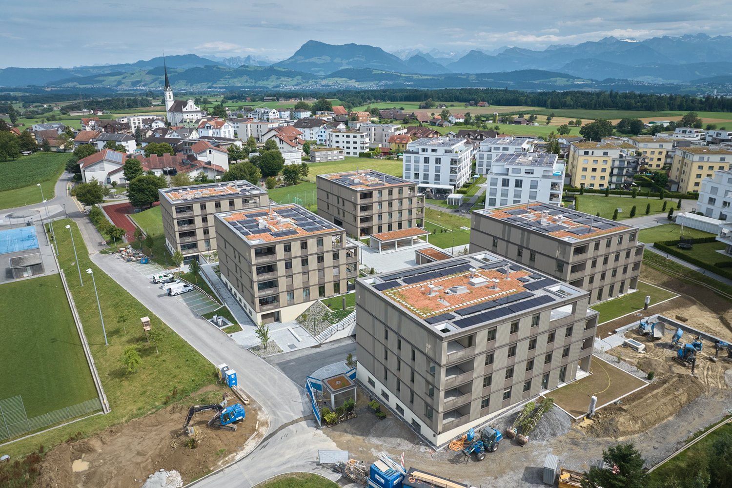
[[[566,4],[565,4],[566,2]],[[285,59],[307,40],[542,49],[615,36],[732,32],[728,0],[23,0],[1,4],[0,68],[116,64],[166,54]],[[418,7],[417,7],[418,6]]]

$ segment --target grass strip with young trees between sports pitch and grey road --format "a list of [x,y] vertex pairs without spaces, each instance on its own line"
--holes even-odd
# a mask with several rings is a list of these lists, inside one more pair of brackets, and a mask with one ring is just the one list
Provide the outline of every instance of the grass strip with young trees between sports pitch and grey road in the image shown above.
[[[83,275],[84,285],[79,286],[78,272],[72,266],[75,258],[70,233],[67,232],[56,234],[59,262],[61,269],[66,270],[67,281],[112,410],[104,416],[94,416],[26,440],[18,440],[5,447],[4,452],[11,457],[30,452],[39,444],[46,448],[54,446],[75,432],[82,432],[83,436],[93,435],[112,425],[163,408],[168,402],[183,399],[215,380],[214,368],[209,361],[91,262],[76,224],[70,219],[59,221],[61,227],[67,224],[72,226],[81,268],[94,270],[109,345],[104,344],[97,300],[89,275]],[[15,308],[18,306],[15,305]],[[23,307],[24,312],[27,308]],[[145,316],[151,319],[153,329],[162,332],[158,345],[160,353],[155,352],[154,345],[146,342],[140,326],[140,318]],[[130,374],[125,373],[121,360],[122,351],[128,346],[138,348],[142,359],[141,366]]]

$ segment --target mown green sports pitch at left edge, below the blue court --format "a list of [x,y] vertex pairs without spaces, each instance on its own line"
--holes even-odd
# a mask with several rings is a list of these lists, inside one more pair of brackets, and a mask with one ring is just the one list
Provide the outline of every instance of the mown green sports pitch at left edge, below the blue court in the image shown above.
[[20,395],[28,416],[35,417],[96,398],[59,275],[0,285],[0,296],[0,315],[7,320],[0,399]]

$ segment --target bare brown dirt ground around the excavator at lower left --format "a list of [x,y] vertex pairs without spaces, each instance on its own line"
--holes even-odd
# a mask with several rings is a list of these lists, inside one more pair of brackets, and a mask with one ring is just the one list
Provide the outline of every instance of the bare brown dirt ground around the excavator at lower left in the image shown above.
[[210,429],[206,423],[212,414],[196,414],[191,422],[196,448],[186,445],[190,438],[182,429],[187,414],[184,405],[135,418],[89,439],[61,444],[45,457],[36,487],[139,487],[161,468],[178,471],[188,482],[242,450],[258,419],[260,429],[266,429],[266,416],[258,415],[255,402],[245,410],[247,416],[236,432]]

